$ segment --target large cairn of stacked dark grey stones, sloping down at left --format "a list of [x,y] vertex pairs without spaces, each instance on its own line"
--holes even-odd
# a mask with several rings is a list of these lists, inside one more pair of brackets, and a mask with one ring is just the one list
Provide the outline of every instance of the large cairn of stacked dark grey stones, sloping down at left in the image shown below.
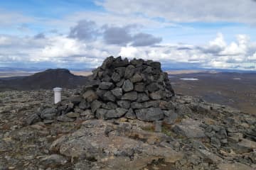
[[92,73],[94,83],[55,108],[43,108],[38,117],[46,123],[122,117],[171,122],[174,90],[160,62],[107,57]]

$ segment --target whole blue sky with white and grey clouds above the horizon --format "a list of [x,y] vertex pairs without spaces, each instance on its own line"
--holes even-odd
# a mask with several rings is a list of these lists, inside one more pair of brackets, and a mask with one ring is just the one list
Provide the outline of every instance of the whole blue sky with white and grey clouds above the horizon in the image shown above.
[[88,69],[109,55],[166,68],[256,70],[253,0],[9,0],[0,67]]

